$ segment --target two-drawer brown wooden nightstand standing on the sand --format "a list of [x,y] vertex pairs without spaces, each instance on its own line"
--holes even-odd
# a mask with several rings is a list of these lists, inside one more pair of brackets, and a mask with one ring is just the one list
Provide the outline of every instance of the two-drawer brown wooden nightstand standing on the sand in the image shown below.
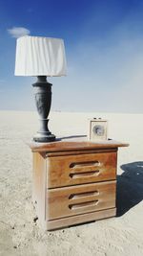
[[31,144],[32,201],[47,230],[116,215],[115,141]]

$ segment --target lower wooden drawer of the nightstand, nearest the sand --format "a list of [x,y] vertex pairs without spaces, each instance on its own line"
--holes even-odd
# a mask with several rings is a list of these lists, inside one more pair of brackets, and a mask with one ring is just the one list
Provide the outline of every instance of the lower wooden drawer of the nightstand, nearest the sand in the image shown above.
[[114,208],[115,188],[116,181],[109,181],[50,189],[47,193],[47,220]]

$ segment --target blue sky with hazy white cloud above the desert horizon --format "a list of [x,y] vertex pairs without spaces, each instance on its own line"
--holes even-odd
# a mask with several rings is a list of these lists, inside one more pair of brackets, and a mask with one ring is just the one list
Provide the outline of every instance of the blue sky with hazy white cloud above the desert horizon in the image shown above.
[[22,35],[64,39],[51,110],[143,113],[143,0],[0,0],[0,110],[35,110],[36,79],[14,76]]

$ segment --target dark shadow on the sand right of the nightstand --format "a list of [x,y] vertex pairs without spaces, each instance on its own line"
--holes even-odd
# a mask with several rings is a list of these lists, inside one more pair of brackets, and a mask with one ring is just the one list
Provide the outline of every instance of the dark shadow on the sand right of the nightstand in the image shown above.
[[143,162],[122,165],[122,175],[117,175],[117,217],[128,212],[143,199]]

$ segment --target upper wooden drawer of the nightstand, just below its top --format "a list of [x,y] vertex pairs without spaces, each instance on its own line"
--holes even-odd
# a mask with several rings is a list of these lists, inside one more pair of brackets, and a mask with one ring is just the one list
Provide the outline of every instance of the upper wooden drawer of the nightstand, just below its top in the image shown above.
[[48,188],[115,179],[116,152],[47,158]]

